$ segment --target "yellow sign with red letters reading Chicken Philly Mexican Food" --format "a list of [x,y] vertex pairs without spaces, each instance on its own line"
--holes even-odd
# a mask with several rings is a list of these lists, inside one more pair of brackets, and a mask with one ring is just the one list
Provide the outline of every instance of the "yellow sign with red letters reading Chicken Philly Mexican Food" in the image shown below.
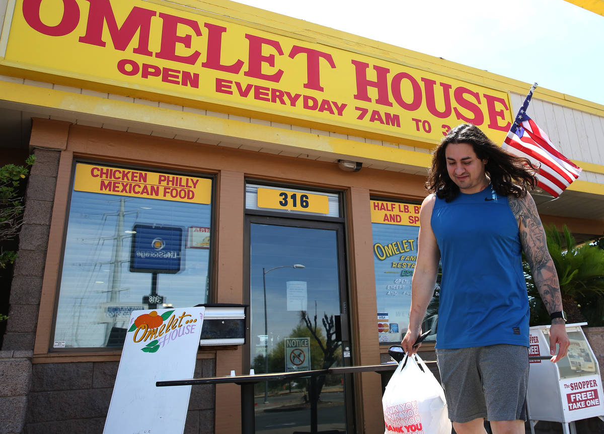
[[76,191],[191,203],[210,203],[211,188],[207,178],[82,163],[74,180]]

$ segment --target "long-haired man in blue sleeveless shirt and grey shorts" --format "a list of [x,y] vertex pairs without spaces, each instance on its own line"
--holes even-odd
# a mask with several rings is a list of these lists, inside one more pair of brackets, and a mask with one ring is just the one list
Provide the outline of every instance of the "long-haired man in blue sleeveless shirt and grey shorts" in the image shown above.
[[551,361],[570,343],[556,269],[528,193],[536,170],[471,124],[452,129],[432,154],[402,346],[417,351],[440,261],[436,354],[457,434],[484,434],[484,419],[495,434],[524,433],[529,308],[522,252],[552,318]]

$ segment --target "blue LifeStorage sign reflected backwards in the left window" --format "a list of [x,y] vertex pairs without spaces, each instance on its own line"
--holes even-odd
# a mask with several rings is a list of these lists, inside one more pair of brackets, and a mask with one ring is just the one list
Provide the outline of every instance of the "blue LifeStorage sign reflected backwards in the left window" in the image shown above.
[[132,231],[130,271],[178,273],[181,270],[181,228],[134,225]]

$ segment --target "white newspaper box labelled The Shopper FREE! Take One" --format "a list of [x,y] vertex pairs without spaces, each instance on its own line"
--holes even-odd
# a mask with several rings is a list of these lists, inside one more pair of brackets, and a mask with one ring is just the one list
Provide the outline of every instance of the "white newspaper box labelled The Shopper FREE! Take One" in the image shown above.
[[[528,374],[527,410],[531,432],[538,421],[562,423],[564,434],[575,433],[574,421],[602,417],[602,378],[594,352],[580,324],[567,324],[567,357],[557,363],[532,360]],[[529,356],[550,355],[550,326],[529,331]]]

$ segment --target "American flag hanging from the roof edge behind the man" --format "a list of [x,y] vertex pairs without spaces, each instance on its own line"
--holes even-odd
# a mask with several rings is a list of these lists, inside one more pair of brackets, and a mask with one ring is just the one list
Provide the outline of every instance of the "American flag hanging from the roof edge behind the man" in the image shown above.
[[544,130],[527,115],[528,103],[533,97],[535,83],[518,111],[502,148],[510,154],[527,158],[536,167],[538,187],[558,197],[579,177],[581,168],[562,155],[551,143]]

